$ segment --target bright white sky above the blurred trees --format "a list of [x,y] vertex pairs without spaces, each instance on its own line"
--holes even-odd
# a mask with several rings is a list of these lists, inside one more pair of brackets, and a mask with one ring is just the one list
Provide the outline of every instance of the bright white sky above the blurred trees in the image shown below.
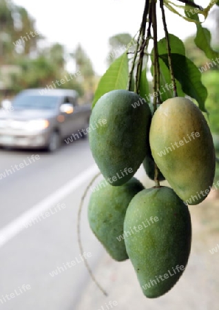
[[[210,1],[210,0],[209,0]],[[199,0],[207,7],[208,0]],[[23,6],[36,20],[36,30],[50,43],[65,45],[73,52],[81,43],[92,60],[97,74],[107,69],[108,39],[118,33],[132,36],[140,27],[145,0],[13,0]],[[183,4],[178,2],[179,4]],[[168,31],[180,39],[194,34],[196,25],[167,12]],[[163,23],[158,14],[158,35],[163,37]]]

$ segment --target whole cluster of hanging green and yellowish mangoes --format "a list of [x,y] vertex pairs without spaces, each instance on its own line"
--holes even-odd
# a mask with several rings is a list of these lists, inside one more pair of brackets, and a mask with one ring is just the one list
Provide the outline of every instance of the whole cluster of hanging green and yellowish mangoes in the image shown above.
[[[168,99],[152,117],[147,102],[127,90],[97,101],[90,125],[100,119],[90,149],[105,180],[90,198],[90,227],[112,258],[131,260],[145,296],[157,298],[176,284],[189,259],[187,204],[200,203],[212,186],[211,132],[189,99]],[[158,179],[172,188],[145,189],[134,178],[142,163],[152,179],[156,163]]]

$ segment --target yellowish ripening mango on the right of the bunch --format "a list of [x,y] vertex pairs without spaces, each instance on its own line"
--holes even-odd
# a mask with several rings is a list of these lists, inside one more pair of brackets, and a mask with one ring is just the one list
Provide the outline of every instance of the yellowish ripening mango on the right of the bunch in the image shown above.
[[163,102],[149,132],[152,156],[178,196],[197,205],[210,192],[216,167],[215,149],[207,121],[189,99]]

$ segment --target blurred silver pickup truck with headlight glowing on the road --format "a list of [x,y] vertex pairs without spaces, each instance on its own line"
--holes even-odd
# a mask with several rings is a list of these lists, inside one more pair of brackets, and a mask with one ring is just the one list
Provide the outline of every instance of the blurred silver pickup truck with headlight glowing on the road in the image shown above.
[[12,109],[0,110],[0,145],[53,152],[63,138],[89,126],[90,113],[74,90],[23,90]]

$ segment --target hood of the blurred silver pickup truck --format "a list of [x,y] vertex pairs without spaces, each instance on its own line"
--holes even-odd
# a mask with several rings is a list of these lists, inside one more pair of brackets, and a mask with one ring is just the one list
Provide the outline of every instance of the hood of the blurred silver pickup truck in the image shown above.
[[54,110],[0,110],[0,118],[8,119],[12,118],[17,121],[31,121],[32,119],[37,118],[52,118],[52,116],[56,115]]

